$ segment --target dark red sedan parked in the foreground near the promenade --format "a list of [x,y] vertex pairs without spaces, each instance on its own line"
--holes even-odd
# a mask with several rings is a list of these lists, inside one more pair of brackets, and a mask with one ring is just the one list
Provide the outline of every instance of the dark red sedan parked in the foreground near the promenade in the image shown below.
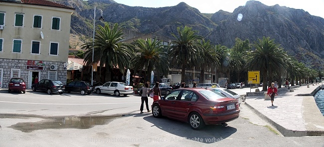
[[237,99],[227,98],[203,88],[176,89],[153,102],[152,114],[187,122],[194,130],[205,125],[222,124],[238,118]]

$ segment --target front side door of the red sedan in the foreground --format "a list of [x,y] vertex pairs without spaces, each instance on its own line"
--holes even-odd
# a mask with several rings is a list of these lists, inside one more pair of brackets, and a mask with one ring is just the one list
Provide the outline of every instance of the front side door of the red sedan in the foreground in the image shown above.
[[176,117],[174,114],[173,107],[181,91],[182,90],[172,91],[168,95],[163,97],[164,101],[159,101],[163,116],[170,117],[170,118]]

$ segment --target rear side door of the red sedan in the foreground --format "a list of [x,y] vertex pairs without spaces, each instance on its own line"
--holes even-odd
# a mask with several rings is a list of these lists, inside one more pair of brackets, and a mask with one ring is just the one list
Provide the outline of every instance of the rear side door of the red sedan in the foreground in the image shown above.
[[[181,97],[174,103],[174,114],[177,120],[186,121],[191,107],[197,100],[198,96],[191,90],[183,90]],[[192,99],[192,101],[191,101]]]

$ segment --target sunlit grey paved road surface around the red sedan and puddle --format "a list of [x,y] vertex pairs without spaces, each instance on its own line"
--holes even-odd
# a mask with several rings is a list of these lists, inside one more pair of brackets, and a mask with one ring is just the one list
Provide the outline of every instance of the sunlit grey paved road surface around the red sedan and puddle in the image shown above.
[[[277,135],[278,131],[264,127],[270,125],[244,104],[240,107],[240,117],[227,123],[228,126],[206,126],[194,131],[185,123],[156,119],[149,113],[139,114],[139,102],[140,97],[133,95],[50,96],[42,92],[8,94],[0,90],[0,114],[51,116],[1,115],[0,147],[324,147],[324,137]],[[127,115],[84,117],[122,113]]]

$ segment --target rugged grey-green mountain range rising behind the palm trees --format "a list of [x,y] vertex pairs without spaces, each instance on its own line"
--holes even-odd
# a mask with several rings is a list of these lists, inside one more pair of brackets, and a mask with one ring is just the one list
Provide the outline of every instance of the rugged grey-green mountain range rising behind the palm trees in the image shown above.
[[[180,2],[174,6],[150,8],[128,6],[114,0],[50,0],[75,8],[71,19],[71,40],[89,41],[96,15],[103,12],[105,21],[141,33],[157,33],[172,38],[177,26],[190,26],[214,44],[232,47],[235,38],[251,43],[263,36],[275,39],[290,55],[314,69],[324,69],[324,18],[303,9],[278,4],[265,5],[247,1],[233,12],[219,10],[214,14],[200,13]],[[238,14],[242,19],[238,20]],[[96,21],[96,25],[103,25]],[[88,36],[88,37],[85,37]],[[87,39],[88,38],[88,39]],[[71,42],[71,41],[70,41]],[[74,42],[74,41],[73,41]]]

